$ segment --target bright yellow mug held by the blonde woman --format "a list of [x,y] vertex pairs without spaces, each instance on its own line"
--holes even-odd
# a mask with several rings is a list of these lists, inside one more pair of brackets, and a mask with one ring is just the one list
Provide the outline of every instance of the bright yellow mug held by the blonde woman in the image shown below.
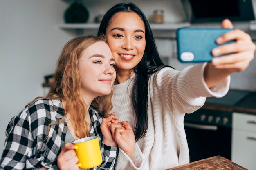
[[77,166],[81,169],[93,168],[102,163],[101,148],[97,136],[84,137],[72,142],[75,145]]

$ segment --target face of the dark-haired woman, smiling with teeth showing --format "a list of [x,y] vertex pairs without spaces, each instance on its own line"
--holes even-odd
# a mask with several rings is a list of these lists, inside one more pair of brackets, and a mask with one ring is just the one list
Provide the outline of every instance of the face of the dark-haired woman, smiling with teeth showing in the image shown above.
[[145,26],[134,12],[118,12],[106,29],[108,46],[115,59],[117,74],[133,69],[146,47]]

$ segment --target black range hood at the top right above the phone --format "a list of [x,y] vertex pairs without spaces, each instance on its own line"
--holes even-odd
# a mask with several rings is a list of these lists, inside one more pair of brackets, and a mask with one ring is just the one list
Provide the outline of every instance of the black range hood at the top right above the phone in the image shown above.
[[188,21],[255,20],[252,0],[182,0]]

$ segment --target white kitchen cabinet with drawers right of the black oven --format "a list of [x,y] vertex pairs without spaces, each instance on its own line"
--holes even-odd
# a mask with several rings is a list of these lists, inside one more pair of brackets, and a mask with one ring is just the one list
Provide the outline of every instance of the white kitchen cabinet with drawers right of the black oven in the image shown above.
[[233,113],[231,161],[256,168],[256,115]]

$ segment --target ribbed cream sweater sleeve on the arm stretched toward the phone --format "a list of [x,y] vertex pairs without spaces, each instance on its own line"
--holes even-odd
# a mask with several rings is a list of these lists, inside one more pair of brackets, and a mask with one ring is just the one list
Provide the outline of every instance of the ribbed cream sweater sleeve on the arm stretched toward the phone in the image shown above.
[[154,76],[150,90],[152,93],[160,93],[165,107],[170,112],[193,113],[204,105],[206,97],[222,97],[229,90],[230,76],[214,87],[207,87],[203,77],[206,64],[189,66],[180,72],[163,68]]

